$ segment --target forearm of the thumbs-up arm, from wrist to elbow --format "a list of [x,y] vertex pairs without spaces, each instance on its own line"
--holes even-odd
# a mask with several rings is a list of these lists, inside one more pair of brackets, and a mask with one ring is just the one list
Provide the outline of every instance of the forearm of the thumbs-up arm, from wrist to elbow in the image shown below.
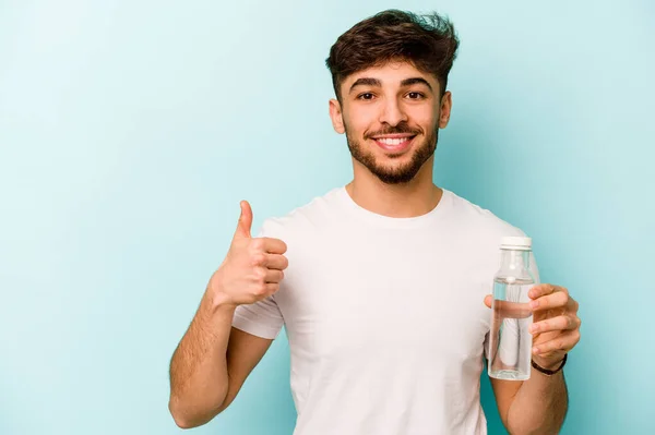
[[170,362],[169,409],[182,427],[205,424],[228,390],[227,343],[234,306],[205,295]]

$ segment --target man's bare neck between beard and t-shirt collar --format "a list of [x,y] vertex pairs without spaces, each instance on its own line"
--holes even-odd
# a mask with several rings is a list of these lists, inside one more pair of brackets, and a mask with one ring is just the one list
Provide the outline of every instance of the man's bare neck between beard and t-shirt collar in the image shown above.
[[443,191],[432,182],[434,156],[403,184],[384,184],[361,164],[354,164],[355,177],[346,191],[357,205],[371,213],[395,218],[422,216],[441,201]]

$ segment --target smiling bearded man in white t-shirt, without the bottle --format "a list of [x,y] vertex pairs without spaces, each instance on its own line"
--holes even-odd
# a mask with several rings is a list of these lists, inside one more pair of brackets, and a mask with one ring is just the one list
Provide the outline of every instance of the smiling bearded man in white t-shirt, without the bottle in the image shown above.
[[[452,97],[452,24],[385,11],[342,35],[327,67],[354,179],[251,237],[241,217],[171,365],[177,424],[212,420],[286,327],[296,435],[485,434],[479,378],[499,243],[523,232],[432,183]],[[564,288],[531,290],[535,368],[491,384],[512,434],[555,434],[564,355],[579,341]],[[550,372],[549,372],[550,371]],[[556,372],[556,373],[551,373]]]

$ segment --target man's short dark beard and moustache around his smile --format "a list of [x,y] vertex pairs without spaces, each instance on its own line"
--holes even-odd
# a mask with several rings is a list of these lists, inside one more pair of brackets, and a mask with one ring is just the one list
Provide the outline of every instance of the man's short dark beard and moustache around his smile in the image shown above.
[[[408,183],[416,177],[420,168],[424,166],[426,161],[437,150],[437,141],[439,138],[439,128],[434,125],[431,132],[425,136],[424,141],[420,143],[413,144],[414,150],[412,155],[412,159],[403,164],[401,166],[385,166],[376,159],[374,153],[368,150],[359,143],[355,137],[353,137],[347,126],[346,130],[346,141],[348,143],[348,149],[350,149],[350,154],[353,158],[364,165],[372,174],[378,177],[380,181],[384,184],[403,184]],[[373,137],[377,135],[383,134],[393,134],[393,133],[409,133],[414,135],[420,134],[420,130],[412,129],[406,123],[400,123],[396,126],[392,126],[389,129],[380,130],[373,133],[365,134],[365,141],[369,137]],[[416,141],[417,137],[413,137],[413,141]],[[396,159],[402,157],[402,154],[388,154],[388,158]]]

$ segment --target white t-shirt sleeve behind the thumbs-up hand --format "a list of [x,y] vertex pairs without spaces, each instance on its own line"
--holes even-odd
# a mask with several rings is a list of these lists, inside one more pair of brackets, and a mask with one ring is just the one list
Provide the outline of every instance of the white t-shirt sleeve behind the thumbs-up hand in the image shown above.
[[[264,221],[257,237],[275,237],[269,228],[269,222]],[[237,306],[233,318],[235,328],[270,340],[277,338],[283,325],[284,318],[275,302],[275,294],[253,304]]]

